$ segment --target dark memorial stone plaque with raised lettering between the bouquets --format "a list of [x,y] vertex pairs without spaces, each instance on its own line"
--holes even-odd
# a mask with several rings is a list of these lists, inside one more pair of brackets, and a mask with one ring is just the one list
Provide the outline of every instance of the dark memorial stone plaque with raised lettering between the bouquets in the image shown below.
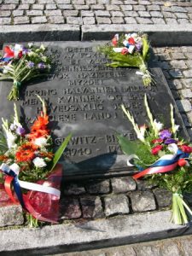
[[[96,52],[102,42],[47,42],[53,61],[48,79],[32,81],[22,87],[20,112],[30,126],[41,111],[37,94],[49,106],[50,129],[55,148],[61,145],[69,132],[73,133],[62,163],[66,177],[131,173],[126,166],[115,133],[130,140],[137,139],[131,123],[120,108],[125,104],[139,125],[148,123],[143,107],[147,94],[154,117],[170,127],[172,102],[177,124],[188,137],[177,111],[172,93],[160,68],[153,68],[156,84],[144,87],[141,76],[134,68],[107,67],[108,60]],[[0,116],[8,118],[13,113],[13,102],[7,100],[10,82],[0,84]]]

